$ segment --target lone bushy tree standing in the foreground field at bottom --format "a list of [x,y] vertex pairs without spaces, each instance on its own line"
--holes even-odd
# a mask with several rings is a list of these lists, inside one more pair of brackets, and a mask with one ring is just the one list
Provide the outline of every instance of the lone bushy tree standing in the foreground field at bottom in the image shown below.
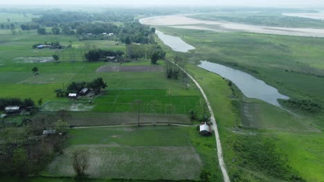
[[73,170],[78,176],[83,176],[89,167],[89,152],[87,150],[75,150],[73,152]]

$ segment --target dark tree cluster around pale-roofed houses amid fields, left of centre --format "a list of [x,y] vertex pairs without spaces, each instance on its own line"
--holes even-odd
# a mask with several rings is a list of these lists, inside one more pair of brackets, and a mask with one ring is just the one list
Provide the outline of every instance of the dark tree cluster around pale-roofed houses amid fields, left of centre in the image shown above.
[[93,81],[90,81],[90,82],[85,82],[85,81],[75,82],[75,81],[73,81],[66,87],[66,90],[64,90],[64,88],[63,89],[58,88],[58,89],[55,89],[54,92],[56,94],[56,97],[65,97],[69,93],[79,93],[83,88],[89,88],[89,89],[93,90],[93,92],[95,92],[95,94],[99,94],[101,89],[107,88],[107,83],[105,83],[105,81],[103,81],[103,79],[101,77],[93,79]]

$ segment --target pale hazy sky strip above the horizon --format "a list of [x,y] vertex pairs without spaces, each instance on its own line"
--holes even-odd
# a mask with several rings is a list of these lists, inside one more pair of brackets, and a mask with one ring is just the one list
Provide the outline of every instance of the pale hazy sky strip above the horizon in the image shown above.
[[219,5],[219,6],[290,6],[290,7],[316,7],[324,6],[324,0],[0,0],[0,4],[125,4],[138,5]]

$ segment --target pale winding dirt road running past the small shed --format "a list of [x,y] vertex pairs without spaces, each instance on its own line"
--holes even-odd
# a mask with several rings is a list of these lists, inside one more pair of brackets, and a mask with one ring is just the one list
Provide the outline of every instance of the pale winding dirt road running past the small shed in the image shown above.
[[204,90],[199,85],[199,83],[188,72],[186,72],[186,70],[183,70],[183,68],[181,68],[181,66],[179,66],[177,63],[174,63],[173,61],[171,61],[171,62],[174,65],[177,65],[184,73],[186,73],[188,75],[188,77],[197,85],[197,88],[199,88],[201,94],[204,96],[204,99],[205,99],[206,104],[208,106],[208,110],[210,112],[210,121],[213,123],[213,130],[215,132],[215,138],[216,138],[216,144],[217,144],[217,156],[218,156],[219,166],[220,166],[220,168],[222,170],[224,182],[230,182],[230,179],[229,179],[227,171],[226,171],[226,165],[224,163],[223,152],[222,152],[222,143],[220,142],[220,139],[219,139],[219,133],[218,133],[216,119],[215,119],[215,116],[214,116],[213,109],[211,108],[210,103],[208,101],[208,98],[207,98]]

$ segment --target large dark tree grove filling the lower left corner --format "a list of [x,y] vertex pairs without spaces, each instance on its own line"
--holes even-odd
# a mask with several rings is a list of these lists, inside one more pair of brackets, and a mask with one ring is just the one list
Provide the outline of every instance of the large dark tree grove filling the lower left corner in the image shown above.
[[[50,116],[33,120],[24,118],[21,127],[3,126],[4,122],[1,122],[0,175],[38,174],[51,162],[54,154],[62,154],[69,125],[51,119]],[[40,136],[48,126],[61,134]]]

